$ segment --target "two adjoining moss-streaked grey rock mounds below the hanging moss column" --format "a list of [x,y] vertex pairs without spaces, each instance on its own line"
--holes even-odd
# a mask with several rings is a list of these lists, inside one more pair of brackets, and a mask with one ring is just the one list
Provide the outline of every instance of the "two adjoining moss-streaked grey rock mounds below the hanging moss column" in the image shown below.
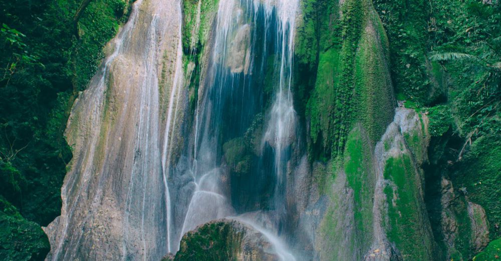
[[326,196],[316,202],[325,207],[317,210],[319,259],[433,259],[421,168],[427,121],[412,109],[397,108],[375,145],[363,124],[349,132],[343,158],[332,163],[332,178],[324,178]]

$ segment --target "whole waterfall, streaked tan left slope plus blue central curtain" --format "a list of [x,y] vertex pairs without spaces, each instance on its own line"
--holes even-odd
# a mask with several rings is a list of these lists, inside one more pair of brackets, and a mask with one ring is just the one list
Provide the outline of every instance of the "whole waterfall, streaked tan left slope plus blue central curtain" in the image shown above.
[[[62,215],[46,228],[48,259],[160,259],[179,249],[186,231],[230,216],[265,235],[282,259],[294,259],[279,226],[297,127],[291,90],[297,5],[219,1],[191,125],[184,122],[181,1],[134,3],[112,41],[114,52],[72,110],[67,136],[74,161]],[[263,108],[270,112],[263,115]],[[261,148],[242,178],[261,181],[233,185],[245,179],[231,179],[226,152],[256,122],[264,128]],[[241,215],[259,209],[273,221]]]

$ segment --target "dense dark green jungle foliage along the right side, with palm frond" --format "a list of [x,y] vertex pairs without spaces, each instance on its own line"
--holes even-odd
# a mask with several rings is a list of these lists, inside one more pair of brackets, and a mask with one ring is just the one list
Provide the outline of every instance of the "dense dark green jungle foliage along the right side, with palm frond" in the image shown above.
[[[490,237],[499,231],[501,174],[501,2],[498,0],[374,0],[390,39],[391,76],[398,100],[425,111],[432,136],[426,195],[435,239],[444,258],[471,258],[474,247],[467,202],[484,207]],[[442,178],[453,184],[447,209],[436,210]],[[438,189],[438,190],[437,190]],[[444,206],[442,206],[444,207]],[[457,222],[443,245],[444,213]],[[450,212],[448,212],[450,211]],[[451,233],[451,232],[445,232]]]

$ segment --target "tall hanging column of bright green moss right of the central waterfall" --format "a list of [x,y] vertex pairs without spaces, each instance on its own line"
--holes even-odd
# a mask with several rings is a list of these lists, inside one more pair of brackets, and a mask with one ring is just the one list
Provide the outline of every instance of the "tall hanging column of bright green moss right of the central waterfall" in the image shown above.
[[387,38],[372,8],[370,1],[347,0],[340,8],[341,17],[339,8],[327,8],[336,12],[324,18],[329,23],[322,20],[325,35],[320,33],[317,79],[307,106],[310,149],[322,150],[316,155],[342,154],[356,122],[362,123],[373,143],[391,122],[394,99]]

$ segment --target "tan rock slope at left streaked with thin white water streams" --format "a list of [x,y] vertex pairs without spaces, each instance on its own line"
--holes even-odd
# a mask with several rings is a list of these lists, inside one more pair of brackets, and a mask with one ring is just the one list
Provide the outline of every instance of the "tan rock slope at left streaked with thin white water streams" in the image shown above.
[[180,1],[136,1],[75,101],[66,130],[74,157],[61,216],[46,228],[48,260],[159,260],[170,250],[165,169],[183,91],[181,17]]

